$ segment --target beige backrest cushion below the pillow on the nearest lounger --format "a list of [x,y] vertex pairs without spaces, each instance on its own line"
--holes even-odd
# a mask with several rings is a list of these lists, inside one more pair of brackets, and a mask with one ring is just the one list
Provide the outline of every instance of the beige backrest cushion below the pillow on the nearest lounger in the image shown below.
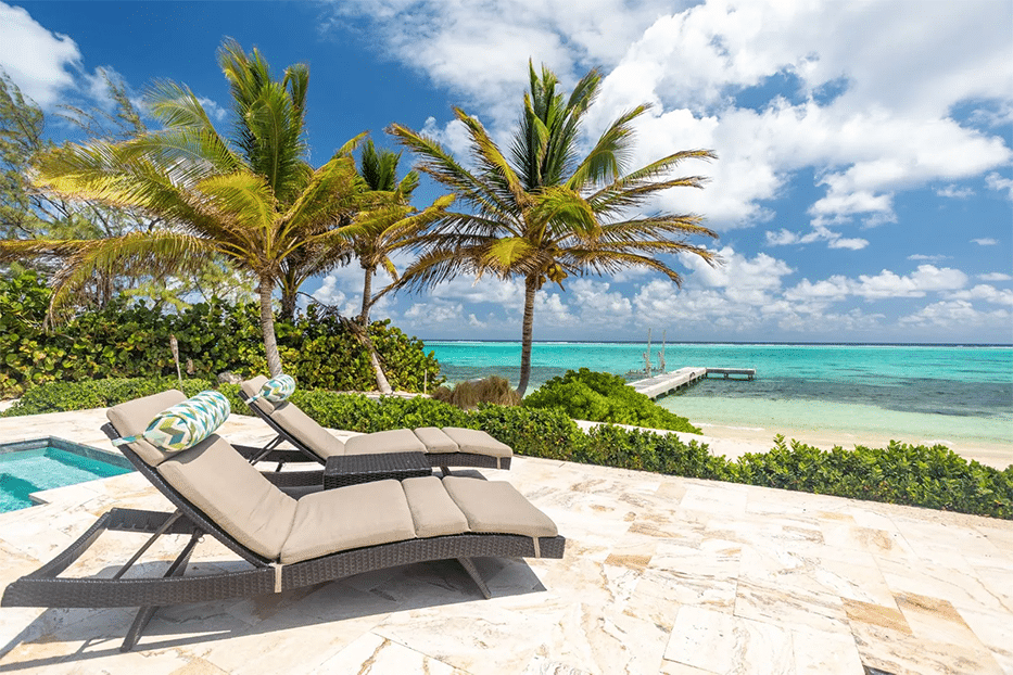
[[274,560],[289,536],[295,500],[271,485],[224,438],[212,434],[174,453],[159,473],[246,548]]

